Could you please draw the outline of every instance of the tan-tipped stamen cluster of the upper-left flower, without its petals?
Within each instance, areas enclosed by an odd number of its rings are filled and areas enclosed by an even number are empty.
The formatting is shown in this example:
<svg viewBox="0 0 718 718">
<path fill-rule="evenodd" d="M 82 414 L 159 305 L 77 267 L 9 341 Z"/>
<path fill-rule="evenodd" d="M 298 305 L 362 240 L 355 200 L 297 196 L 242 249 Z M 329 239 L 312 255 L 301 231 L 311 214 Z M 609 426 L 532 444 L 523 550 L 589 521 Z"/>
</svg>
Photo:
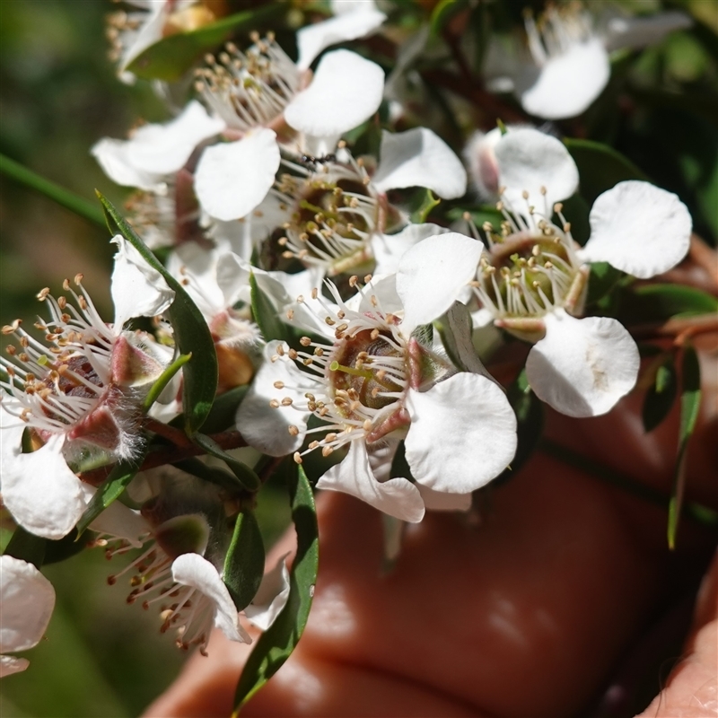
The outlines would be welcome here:
<svg viewBox="0 0 718 718">
<path fill-rule="evenodd" d="M 195 88 L 228 127 L 247 132 L 278 120 L 299 92 L 302 73 L 273 34 L 252 37 L 246 53 L 228 43 L 218 57 L 206 56 L 207 67 L 197 70 Z"/>
</svg>

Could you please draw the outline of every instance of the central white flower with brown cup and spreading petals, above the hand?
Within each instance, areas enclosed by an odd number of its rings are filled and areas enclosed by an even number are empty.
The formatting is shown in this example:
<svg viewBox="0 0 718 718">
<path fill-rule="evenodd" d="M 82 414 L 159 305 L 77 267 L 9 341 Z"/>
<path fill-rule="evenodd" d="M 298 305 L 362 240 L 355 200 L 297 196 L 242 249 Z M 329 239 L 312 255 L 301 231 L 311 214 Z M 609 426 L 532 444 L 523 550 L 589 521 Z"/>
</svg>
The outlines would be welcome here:
<svg viewBox="0 0 718 718">
<path fill-rule="evenodd" d="M 316 289 L 298 299 L 293 320 L 324 338 L 302 338 L 299 352 L 267 346 L 267 363 L 237 416 L 247 441 L 271 455 L 295 451 L 297 461 L 348 445 L 317 486 L 404 521 L 421 521 L 435 493 L 466 495 L 496 477 L 516 449 L 503 390 L 486 376 L 458 372 L 415 334 L 465 292 L 481 250 L 459 234 L 431 237 L 407 250 L 396 276 L 370 282 L 349 302 L 330 283 L 333 302 Z M 359 286 L 356 278 L 351 284 Z M 308 429 L 310 416 L 326 424 Z M 319 432 L 325 435 L 298 451 Z M 416 483 L 374 473 L 372 451 L 395 438 L 405 439 Z"/>
</svg>

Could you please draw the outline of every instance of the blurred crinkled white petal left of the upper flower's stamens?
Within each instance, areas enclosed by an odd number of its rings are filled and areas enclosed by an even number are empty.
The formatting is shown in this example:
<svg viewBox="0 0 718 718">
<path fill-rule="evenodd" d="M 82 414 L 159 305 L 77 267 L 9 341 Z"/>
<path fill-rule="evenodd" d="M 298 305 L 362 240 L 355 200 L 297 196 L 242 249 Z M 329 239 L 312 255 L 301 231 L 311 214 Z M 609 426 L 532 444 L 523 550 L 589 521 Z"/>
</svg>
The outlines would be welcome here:
<svg viewBox="0 0 718 718">
<path fill-rule="evenodd" d="M 171 122 L 138 127 L 128 140 L 104 137 L 90 152 L 118 185 L 166 195 L 174 174 L 185 166 L 197 144 L 223 129 L 221 119 L 210 117 L 193 100 Z"/>
</svg>

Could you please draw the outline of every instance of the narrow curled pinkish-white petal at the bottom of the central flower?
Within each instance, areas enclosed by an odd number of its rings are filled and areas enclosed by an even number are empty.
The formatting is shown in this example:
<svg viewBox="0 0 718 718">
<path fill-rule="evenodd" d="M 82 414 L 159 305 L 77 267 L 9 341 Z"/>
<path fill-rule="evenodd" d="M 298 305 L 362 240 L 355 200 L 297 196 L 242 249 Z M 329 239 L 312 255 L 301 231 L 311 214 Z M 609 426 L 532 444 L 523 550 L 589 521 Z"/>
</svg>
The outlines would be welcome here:
<svg viewBox="0 0 718 718">
<path fill-rule="evenodd" d="M 424 518 L 424 502 L 416 486 L 400 477 L 377 481 L 369 465 L 366 444 L 361 440 L 351 442 L 344 460 L 320 478 L 317 488 L 356 496 L 402 521 L 416 523 Z"/>
</svg>

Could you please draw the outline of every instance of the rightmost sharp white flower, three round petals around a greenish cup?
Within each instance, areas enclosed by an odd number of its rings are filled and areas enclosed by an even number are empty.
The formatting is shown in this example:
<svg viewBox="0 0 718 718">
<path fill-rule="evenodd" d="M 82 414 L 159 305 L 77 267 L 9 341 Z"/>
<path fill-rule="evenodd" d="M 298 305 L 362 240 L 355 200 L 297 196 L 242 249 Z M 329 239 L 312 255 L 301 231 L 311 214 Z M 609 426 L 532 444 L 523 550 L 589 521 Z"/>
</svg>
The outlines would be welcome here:
<svg viewBox="0 0 718 718">
<path fill-rule="evenodd" d="M 495 154 L 505 221 L 501 232 L 485 227 L 478 300 L 497 327 L 536 342 L 526 372 L 538 398 L 569 416 L 604 414 L 633 389 L 639 356 L 617 320 L 578 319 L 591 263 L 609 262 L 641 279 L 666 272 L 687 253 L 690 215 L 670 192 L 620 182 L 596 199 L 591 239 L 580 247 L 559 202 L 578 187 L 564 144 L 517 129 L 502 137 Z"/>
</svg>

